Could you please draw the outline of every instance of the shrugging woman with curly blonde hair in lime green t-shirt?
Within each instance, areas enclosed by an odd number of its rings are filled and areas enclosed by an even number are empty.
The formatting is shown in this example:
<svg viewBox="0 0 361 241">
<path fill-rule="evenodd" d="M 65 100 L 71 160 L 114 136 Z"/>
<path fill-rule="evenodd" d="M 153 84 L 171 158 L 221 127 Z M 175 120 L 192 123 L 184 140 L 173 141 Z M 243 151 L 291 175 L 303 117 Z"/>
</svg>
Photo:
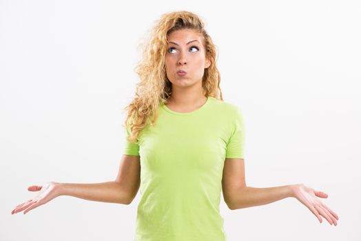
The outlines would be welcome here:
<svg viewBox="0 0 361 241">
<path fill-rule="evenodd" d="M 322 222 L 338 216 L 305 185 L 247 187 L 245 125 L 238 107 L 225 103 L 216 48 L 196 14 L 163 14 L 136 67 L 141 82 L 125 109 L 126 142 L 112 182 L 50 182 L 12 213 L 67 195 L 130 204 L 139 187 L 135 240 L 227 240 L 219 213 L 220 191 L 229 209 L 293 197 Z"/>
</svg>

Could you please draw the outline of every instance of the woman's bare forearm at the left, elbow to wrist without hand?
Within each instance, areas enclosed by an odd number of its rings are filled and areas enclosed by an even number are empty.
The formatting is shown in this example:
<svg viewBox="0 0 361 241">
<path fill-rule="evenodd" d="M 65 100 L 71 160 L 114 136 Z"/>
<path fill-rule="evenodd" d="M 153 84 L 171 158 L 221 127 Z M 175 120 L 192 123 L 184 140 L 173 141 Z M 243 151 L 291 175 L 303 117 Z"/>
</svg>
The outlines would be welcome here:
<svg viewBox="0 0 361 241">
<path fill-rule="evenodd" d="M 91 201 L 130 204 L 128 192 L 120 182 L 59 183 L 59 196 L 73 196 Z"/>
</svg>

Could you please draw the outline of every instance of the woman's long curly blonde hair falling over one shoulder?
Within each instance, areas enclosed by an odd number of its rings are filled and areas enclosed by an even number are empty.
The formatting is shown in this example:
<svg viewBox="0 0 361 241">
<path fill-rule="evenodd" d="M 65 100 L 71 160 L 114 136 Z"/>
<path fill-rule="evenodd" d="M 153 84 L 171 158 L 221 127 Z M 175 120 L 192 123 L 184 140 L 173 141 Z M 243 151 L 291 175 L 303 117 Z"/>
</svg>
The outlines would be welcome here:
<svg viewBox="0 0 361 241">
<path fill-rule="evenodd" d="M 149 32 L 147 41 L 143 44 L 143 58 L 134 68 L 141 79 L 136 84 L 136 93 L 132 102 L 123 110 L 127 110 L 127 117 L 123 127 L 127 129 L 127 140 L 137 143 L 138 135 L 146 125 L 154 125 L 158 105 L 167 103 L 172 94 L 172 83 L 165 71 L 165 54 L 167 52 L 167 36 L 183 29 L 196 30 L 203 36 L 203 47 L 211 65 L 205 69 L 202 86 L 205 96 L 212 96 L 223 101 L 220 90 L 220 73 L 216 67 L 218 58 L 216 45 L 205 30 L 200 17 L 193 12 L 167 12 L 155 22 Z"/>
</svg>

